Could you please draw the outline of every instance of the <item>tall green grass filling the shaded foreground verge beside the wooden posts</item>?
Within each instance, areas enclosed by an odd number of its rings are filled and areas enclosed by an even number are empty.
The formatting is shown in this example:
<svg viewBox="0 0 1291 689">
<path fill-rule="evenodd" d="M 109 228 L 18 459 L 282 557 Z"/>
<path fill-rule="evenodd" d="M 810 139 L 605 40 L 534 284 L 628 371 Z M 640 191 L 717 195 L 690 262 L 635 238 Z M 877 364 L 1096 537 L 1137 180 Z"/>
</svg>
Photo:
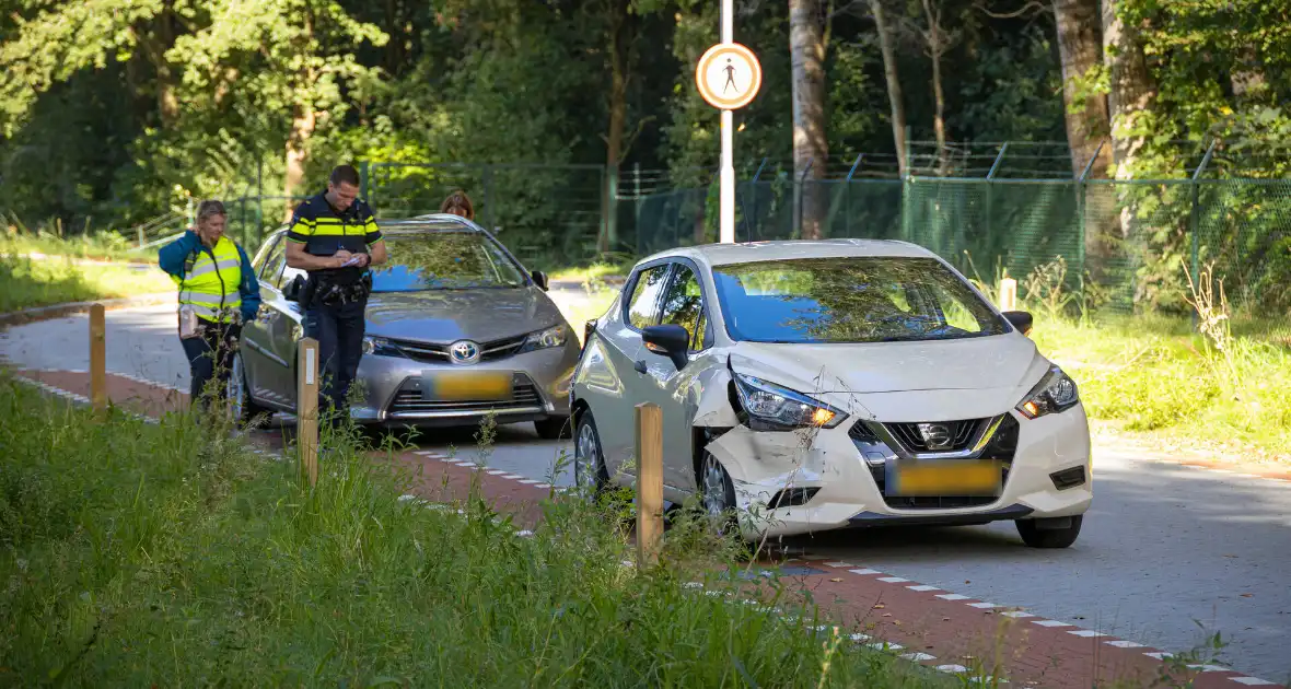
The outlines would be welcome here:
<svg viewBox="0 0 1291 689">
<path fill-rule="evenodd" d="M 944 681 L 679 586 L 700 573 L 676 554 L 638 574 L 576 498 L 522 538 L 478 494 L 462 515 L 400 501 L 414 477 L 343 437 L 309 490 L 217 424 L 0 386 L 3 685 Z"/>
</svg>

